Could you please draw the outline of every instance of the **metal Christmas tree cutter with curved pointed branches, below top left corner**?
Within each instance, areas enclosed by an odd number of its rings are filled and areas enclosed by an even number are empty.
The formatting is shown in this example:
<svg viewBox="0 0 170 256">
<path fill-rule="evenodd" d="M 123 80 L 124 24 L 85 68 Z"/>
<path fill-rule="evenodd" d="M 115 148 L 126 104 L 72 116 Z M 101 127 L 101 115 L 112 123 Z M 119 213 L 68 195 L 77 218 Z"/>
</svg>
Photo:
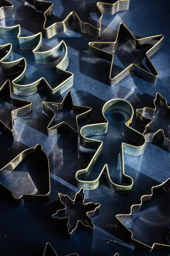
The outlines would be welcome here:
<svg viewBox="0 0 170 256">
<path fill-rule="evenodd" d="M 31 84 L 19 84 L 19 81 L 26 79 L 26 59 L 19 58 L 13 60 L 14 55 L 12 52 L 12 44 L 1 45 L 0 49 L 3 50 L 4 56 L 1 58 L 0 63 L 3 68 L 3 72 L 6 75 L 14 75 L 17 73 L 19 75 L 12 80 L 14 93 L 20 96 L 28 96 L 36 93 L 42 87 L 47 87 L 50 94 L 54 97 L 65 92 L 73 85 L 74 74 L 66 71 L 68 67 L 68 49 L 64 41 L 61 41 L 56 47 L 42 51 L 42 33 L 37 33 L 36 35 L 31 35 L 27 37 L 20 36 L 20 25 L 3 27 L 0 26 L 0 35 L 7 38 L 18 38 L 20 49 L 33 49 L 35 62 L 38 64 L 47 64 L 54 61 L 58 61 L 56 65 L 58 78 L 61 80 L 61 83 L 56 87 L 52 88 L 48 81 L 44 77 L 41 77 L 37 81 L 34 81 Z M 60 57 L 63 55 L 63 58 Z"/>
</svg>

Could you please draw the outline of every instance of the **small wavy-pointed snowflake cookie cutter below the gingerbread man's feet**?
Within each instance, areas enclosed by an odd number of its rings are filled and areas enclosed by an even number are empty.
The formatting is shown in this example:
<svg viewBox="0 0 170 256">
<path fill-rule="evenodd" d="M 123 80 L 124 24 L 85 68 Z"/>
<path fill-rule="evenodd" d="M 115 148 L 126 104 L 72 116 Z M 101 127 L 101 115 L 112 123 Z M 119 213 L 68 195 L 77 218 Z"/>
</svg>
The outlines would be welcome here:
<svg viewBox="0 0 170 256">
<path fill-rule="evenodd" d="M 81 224 L 82 227 L 84 226 L 94 230 L 91 216 L 93 216 L 96 210 L 99 209 L 100 204 L 94 204 L 92 202 L 85 204 L 84 189 L 80 189 L 80 191 L 76 193 L 74 200 L 71 200 L 68 195 L 62 195 L 61 193 L 58 195 L 59 203 L 62 209 L 59 209 L 55 214 L 52 215 L 52 217 L 65 221 L 68 235 L 71 235 L 74 230 L 77 229 L 78 224 Z M 79 215 L 79 219 L 77 220 L 71 216 L 73 209 L 74 211 L 77 211 L 77 215 Z"/>
</svg>

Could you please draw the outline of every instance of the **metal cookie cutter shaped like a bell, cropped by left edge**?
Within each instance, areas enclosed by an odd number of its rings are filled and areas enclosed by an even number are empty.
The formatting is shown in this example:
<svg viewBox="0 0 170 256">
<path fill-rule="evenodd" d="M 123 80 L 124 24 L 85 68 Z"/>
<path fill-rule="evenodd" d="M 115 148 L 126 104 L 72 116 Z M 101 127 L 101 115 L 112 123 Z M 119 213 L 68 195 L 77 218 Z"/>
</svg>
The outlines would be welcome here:
<svg viewBox="0 0 170 256">
<path fill-rule="evenodd" d="M 46 192 L 43 195 L 31 193 L 31 194 L 23 194 L 16 197 L 14 196 L 14 192 L 11 189 L 9 189 L 8 187 L 2 184 L 1 180 L 4 177 L 6 177 L 8 174 L 10 174 L 12 171 L 14 171 L 14 169 L 21 163 L 21 161 L 31 153 L 33 153 L 36 157 L 37 157 L 37 154 L 41 154 L 42 159 L 45 161 L 42 168 L 42 172 L 48 173 L 48 186 L 46 187 Z M 14 201 L 17 205 L 21 205 L 24 203 L 24 201 L 27 201 L 27 200 L 28 201 L 32 200 L 33 202 L 36 202 L 37 200 L 48 199 L 48 196 L 51 192 L 49 160 L 45 151 L 42 150 L 41 144 L 37 144 L 34 148 L 28 148 L 24 150 L 19 155 L 17 155 L 17 157 L 11 160 L 11 162 L 9 162 L 6 166 L 0 169 L 0 189 L 4 190 L 6 194 L 8 193 L 9 196 L 12 195 L 12 198 L 14 198 Z"/>
</svg>

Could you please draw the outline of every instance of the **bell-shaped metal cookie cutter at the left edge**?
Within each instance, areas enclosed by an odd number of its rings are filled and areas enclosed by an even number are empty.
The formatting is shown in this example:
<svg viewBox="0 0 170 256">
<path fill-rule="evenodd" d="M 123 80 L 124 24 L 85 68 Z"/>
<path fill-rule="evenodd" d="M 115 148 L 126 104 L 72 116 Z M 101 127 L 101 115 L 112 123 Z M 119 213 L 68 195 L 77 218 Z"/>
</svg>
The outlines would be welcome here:
<svg viewBox="0 0 170 256">
<path fill-rule="evenodd" d="M 45 186 L 45 189 L 43 189 L 43 192 L 41 194 L 38 194 L 39 185 L 37 184 L 37 180 L 35 180 L 35 187 L 34 192 L 31 192 L 30 194 L 22 194 L 18 191 L 17 186 L 17 192 L 14 192 L 13 190 L 9 189 L 7 186 L 3 185 L 2 180 L 7 175 L 9 175 L 14 169 L 26 158 L 30 157 L 30 155 L 34 155 L 34 157 L 42 164 L 41 169 L 41 182 L 44 180 L 47 180 L 47 185 Z M 40 165 L 39 163 L 39 165 Z M 32 177 L 31 177 L 32 179 Z M 18 180 L 17 180 L 18 181 Z M 34 182 L 34 180 L 33 180 Z M 26 186 L 28 186 L 29 183 L 26 183 Z M 49 169 L 49 161 L 47 154 L 42 150 L 42 145 L 37 144 L 34 148 L 28 148 L 21 152 L 17 157 L 15 157 L 11 162 L 9 162 L 6 166 L 4 166 L 2 169 L 0 169 L 0 189 L 4 190 L 5 193 L 8 192 L 8 194 L 14 198 L 14 201 L 17 205 L 21 205 L 26 200 L 42 200 L 42 199 L 48 199 L 48 196 L 51 192 L 51 186 L 50 186 L 50 169 Z"/>
</svg>

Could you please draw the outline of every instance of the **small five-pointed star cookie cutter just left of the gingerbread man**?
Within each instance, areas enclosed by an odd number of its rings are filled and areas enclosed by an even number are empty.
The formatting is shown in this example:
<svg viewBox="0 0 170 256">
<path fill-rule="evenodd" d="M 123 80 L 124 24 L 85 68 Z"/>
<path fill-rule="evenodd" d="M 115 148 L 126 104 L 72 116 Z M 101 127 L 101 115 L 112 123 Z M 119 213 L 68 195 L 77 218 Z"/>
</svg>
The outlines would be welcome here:
<svg viewBox="0 0 170 256">
<path fill-rule="evenodd" d="M 65 107 L 65 105 L 68 105 L 69 108 L 76 114 L 76 128 L 69 125 L 68 122 L 62 121 L 59 122 L 57 125 L 53 125 L 56 117 L 56 111 L 62 111 L 62 109 Z M 56 110 L 56 111 L 55 111 Z M 48 135 L 54 135 L 58 132 L 59 128 L 61 126 L 67 125 L 69 128 L 71 128 L 75 132 L 79 132 L 79 126 L 78 126 L 78 119 L 85 117 L 88 115 L 88 113 L 91 112 L 90 107 L 84 107 L 84 106 L 77 106 L 73 103 L 73 98 L 71 95 L 71 91 L 68 91 L 64 99 L 61 103 L 54 103 L 54 102 L 43 102 L 43 111 L 44 113 L 51 118 L 51 122 L 49 123 L 47 127 Z"/>
</svg>

